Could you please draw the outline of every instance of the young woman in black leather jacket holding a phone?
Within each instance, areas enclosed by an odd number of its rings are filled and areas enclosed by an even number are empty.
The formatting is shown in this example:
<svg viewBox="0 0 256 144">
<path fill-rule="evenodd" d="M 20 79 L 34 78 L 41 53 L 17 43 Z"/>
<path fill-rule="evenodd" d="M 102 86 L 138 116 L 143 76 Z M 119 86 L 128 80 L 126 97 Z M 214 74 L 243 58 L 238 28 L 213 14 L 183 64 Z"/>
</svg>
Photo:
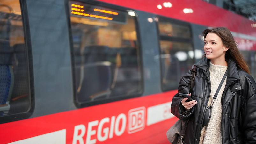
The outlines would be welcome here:
<svg viewBox="0 0 256 144">
<path fill-rule="evenodd" d="M 206 29 L 203 36 L 204 57 L 195 64 L 194 87 L 189 70 L 172 99 L 172 114 L 188 120 L 184 143 L 256 143 L 256 83 L 243 55 L 227 28 Z M 188 98 L 182 99 L 179 93 L 194 100 L 186 102 Z"/>
</svg>

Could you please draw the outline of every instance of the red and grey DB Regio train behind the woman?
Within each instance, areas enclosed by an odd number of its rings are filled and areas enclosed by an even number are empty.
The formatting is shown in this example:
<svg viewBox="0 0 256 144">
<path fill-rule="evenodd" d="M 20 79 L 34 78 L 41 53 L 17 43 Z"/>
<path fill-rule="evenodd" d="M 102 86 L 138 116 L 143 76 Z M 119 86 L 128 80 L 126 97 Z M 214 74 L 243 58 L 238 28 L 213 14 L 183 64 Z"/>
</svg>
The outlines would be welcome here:
<svg viewBox="0 0 256 144">
<path fill-rule="evenodd" d="M 167 144 L 203 30 L 256 79 L 256 22 L 203 0 L 1 0 L 0 144 Z"/>
</svg>

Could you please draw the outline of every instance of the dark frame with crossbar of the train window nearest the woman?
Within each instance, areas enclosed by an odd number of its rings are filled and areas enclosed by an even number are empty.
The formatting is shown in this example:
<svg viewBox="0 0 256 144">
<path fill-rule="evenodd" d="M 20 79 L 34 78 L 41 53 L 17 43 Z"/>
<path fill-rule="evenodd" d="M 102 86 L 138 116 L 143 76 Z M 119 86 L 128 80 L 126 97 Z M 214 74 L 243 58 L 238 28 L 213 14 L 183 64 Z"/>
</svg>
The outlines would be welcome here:
<svg viewBox="0 0 256 144">
<path fill-rule="evenodd" d="M 177 19 L 172 19 L 172 18 L 167 18 L 167 17 L 163 17 L 163 16 L 157 16 L 158 20 L 157 20 L 157 34 L 158 34 L 158 51 L 159 51 L 159 55 L 161 55 L 161 46 L 160 46 L 160 41 L 161 40 L 165 40 L 165 41 L 174 41 L 174 42 L 182 42 L 182 43 L 190 43 L 192 46 L 192 50 L 194 51 L 194 41 L 193 41 L 193 34 L 192 34 L 192 27 L 191 24 L 188 22 L 184 22 L 184 21 L 180 21 Z M 159 31 L 159 26 L 158 23 L 159 21 L 165 21 L 165 22 L 170 22 L 170 23 L 174 23 L 174 24 L 178 24 L 178 25 L 184 25 L 187 26 L 189 28 L 189 32 L 190 32 L 190 38 L 182 38 L 182 37 L 170 37 L 170 36 L 161 36 L 160 35 L 160 31 Z M 195 57 L 193 58 L 195 63 Z M 168 90 L 164 90 L 163 89 L 163 63 L 161 62 L 160 56 L 159 56 L 159 62 L 160 62 L 160 77 L 161 77 L 161 90 L 162 92 L 166 92 L 166 91 L 170 91 L 172 89 L 168 89 Z M 178 84 L 177 84 L 177 89 L 178 89 Z M 176 90 L 176 89 L 174 89 Z"/>
</svg>

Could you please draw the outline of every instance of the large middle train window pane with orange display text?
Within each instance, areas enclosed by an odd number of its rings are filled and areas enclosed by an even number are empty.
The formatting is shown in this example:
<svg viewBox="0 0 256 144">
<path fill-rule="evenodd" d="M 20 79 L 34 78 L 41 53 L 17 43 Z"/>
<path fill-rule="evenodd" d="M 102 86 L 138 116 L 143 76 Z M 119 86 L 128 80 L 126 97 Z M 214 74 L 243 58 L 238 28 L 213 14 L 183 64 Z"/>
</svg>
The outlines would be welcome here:
<svg viewBox="0 0 256 144">
<path fill-rule="evenodd" d="M 140 96 L 135 12 L 73 0 L 68 8 L 77 107 Z"/>
</svg>

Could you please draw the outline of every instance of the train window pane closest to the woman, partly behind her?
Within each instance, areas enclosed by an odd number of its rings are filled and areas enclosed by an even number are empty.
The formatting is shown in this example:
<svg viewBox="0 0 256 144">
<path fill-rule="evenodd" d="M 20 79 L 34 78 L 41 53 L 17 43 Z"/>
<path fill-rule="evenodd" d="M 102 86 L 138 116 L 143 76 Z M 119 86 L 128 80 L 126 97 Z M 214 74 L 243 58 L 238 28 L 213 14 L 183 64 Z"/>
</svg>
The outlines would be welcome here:
<svg viewBox="0 0 256 144">
<path fill-rule="evenodd" d="M 194 64 L 191 28 L 187 23 L 159 18 L 158 34 L 162 90 L 175 90 Z"/>
</svg>

